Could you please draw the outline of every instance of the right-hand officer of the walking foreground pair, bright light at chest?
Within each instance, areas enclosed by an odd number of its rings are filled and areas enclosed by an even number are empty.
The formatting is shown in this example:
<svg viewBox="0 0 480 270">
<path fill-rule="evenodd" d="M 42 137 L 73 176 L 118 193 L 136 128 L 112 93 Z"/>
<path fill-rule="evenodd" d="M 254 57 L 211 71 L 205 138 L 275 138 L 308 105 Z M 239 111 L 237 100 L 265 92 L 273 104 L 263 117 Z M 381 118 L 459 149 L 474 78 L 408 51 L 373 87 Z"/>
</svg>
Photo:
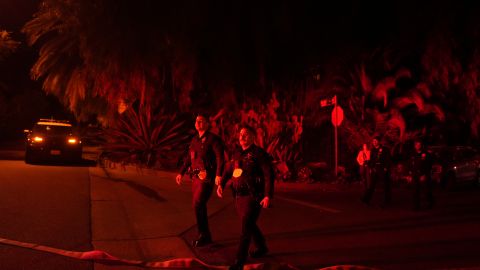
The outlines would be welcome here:
<svg viewBox="0 0 480 270">
<path fill-rule="evenodd" d="M 270 205 L 273 196 L 274 176 L 270 155 L 253 144 L 255 130 L 250 126 L 240 129 L 240 148 L 233 153 L 233 159 L 225 169 L 217 195 L 223 196 L 223 189 L 229 179 L 235 198 L 235 208 L 242 223 L 242 233 L 235 263 L 229 269 L 243 269 L 247 255 L 252 258 L 268 252 L 265 238 L 257 226 L 260 210 Z M 255 249 L 248 250 L 250 239 Z"/>
</svg>

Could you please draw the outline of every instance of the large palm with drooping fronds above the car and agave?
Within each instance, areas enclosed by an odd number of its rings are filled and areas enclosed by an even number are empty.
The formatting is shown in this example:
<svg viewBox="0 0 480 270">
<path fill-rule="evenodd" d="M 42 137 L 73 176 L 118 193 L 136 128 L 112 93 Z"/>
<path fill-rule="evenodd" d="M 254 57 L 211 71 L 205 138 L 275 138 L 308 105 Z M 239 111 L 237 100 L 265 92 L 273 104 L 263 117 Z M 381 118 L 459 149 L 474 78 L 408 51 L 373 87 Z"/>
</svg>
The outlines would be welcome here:
<svg viewBox="0 0 480 270">
<path fill-rule="evenodd" d="M 169 14 L 179 5 L 46 0 L 23 28 L 29 44 L 40 46 L 32 77 L 43 79 L 44 90 L 77 116 L 89 114 L 85 108 L 105 114 L 136 100 L 156 107 L 171 98 L 174 83 L 194 73 L 182 72 L 190 59 L 182 57 L 185 46 L 177 46 L 181 38 L 171 34 Z"/>
</svg>

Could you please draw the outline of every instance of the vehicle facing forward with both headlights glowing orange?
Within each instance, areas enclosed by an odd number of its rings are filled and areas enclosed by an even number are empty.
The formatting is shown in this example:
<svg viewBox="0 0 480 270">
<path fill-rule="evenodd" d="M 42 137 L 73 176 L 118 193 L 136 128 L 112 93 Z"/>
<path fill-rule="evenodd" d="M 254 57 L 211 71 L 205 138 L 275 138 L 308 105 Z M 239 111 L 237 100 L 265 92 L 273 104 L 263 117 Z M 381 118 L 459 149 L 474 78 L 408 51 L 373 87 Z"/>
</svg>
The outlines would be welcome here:
<svg viewBox="0 0 480 270">
<path fill-rule="evenodd" d="M 40 119 L 25 130 L 25 163 L 57 159 L 80 161 L 82 141 L 74 127 L 66 120 Z"/>
</svg>

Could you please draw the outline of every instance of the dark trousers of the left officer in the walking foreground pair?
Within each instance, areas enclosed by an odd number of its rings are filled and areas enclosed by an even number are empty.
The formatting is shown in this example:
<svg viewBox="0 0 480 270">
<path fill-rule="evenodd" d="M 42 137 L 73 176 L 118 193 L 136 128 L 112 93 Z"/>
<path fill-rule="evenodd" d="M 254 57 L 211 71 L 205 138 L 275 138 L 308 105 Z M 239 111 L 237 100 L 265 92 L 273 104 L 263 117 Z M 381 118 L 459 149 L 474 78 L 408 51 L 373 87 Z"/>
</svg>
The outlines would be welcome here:
<svg viewBox="0 0 480 270">
<path fill-rule="evenodd" d="M 192 193 L 193 193 L 193 209 L 195 218 L 197 219 L 198 234 L 204 237 L 211 237 L 208 228 L 207 202 L 212 195 L 213 180 L 207 182 L 193 177 Z"/>
</svg>

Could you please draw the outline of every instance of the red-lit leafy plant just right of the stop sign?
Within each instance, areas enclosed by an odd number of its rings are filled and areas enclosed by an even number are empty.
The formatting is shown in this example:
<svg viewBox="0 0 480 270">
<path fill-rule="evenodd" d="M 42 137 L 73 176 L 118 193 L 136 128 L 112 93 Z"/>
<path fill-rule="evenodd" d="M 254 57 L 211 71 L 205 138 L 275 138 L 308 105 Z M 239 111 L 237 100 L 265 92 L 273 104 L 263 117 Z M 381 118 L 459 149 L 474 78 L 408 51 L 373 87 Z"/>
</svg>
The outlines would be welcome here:
<svg viewBox="0 0 480 270">
<path fill-rule="evenodd" d="M 389 59 L 391 54 L 382 50 L 376 53 L 380 53 L 379 60 L 378 55 L 370 55 L 355 65 L 347 79 L 338 82 L 340 95 L 347 101 L 342 130 L 354 149 L 375 134 L 384 135 L 394 148 L 401 148 L 406 141 L 425 135 L 430 128 L 419 120 L 431 117 L 438 123 L 445 120 L 444 111 L 433 99 L 428 84 L 416 81 L 412 71 L 400 64 L 400 60 Z M 375 61 L 389 64 L 379 65 Z M 371 74 L 378 75 L 374 78 Z M 402 86 L 401 81 L 407 81 L 407 87 Z"/>
</svg>

